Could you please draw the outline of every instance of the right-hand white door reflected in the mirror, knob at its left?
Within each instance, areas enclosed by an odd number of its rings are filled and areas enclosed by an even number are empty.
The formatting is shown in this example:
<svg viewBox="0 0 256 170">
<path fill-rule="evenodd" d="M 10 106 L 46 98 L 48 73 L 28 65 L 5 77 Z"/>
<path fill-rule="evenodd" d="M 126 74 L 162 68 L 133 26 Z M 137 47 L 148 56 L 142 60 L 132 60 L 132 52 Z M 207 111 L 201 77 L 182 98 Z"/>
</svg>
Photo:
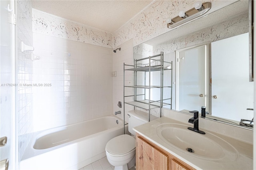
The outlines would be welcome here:
<svg viewBox="0 0 256 170">
<path fill-rule="evenodd" d="M 240 121 L 251 120 L 253 82 L 249 82 L 249 34 L 211 43 L 212 115 Z M 236 113 L 236 114 L 234 114 Z"/>
</svg>

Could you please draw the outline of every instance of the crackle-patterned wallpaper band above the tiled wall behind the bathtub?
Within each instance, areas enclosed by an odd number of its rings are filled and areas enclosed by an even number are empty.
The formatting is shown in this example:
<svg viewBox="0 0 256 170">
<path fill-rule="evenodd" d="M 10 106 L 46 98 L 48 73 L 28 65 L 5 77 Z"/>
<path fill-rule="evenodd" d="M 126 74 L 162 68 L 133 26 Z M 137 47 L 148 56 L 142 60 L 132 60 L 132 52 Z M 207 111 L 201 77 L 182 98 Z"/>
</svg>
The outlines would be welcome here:
<svg viewBox="0 0 256 170">
<path fill-rule="evenodd" d="M 66 20 L 46 12 L 33 9 L 33 32 L 50 35 L 76 42 L 89 43 L 101 47 L 112 48 L 113 35 L 112 33 L 92 28 L 90 26 Z M 66 40 L 57 42 L 57 45 L 68 45 Z M 69 46 L 75 47 L 76 44 Z M 80 45 L 81 46 L 81 45 Z M 64 47 L 64 46 L 62 46 Z M 56 47 L 53 47 L 56 48 Z M 62 52 L 68 48 L 63 48 Z"/>
</svg>

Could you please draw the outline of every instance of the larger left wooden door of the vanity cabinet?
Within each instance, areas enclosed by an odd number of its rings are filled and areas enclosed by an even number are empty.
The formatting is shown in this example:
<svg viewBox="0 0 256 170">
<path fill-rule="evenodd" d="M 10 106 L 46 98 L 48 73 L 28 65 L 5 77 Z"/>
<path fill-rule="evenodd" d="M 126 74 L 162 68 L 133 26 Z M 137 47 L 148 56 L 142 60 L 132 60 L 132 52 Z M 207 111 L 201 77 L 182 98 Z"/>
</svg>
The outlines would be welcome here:
<svg viewBox="0 0 256 170">
<path fill-rule="evenodd" d="M 137 137 L 136 170 L 167 170 L 168 155 Z"/>
</svg>

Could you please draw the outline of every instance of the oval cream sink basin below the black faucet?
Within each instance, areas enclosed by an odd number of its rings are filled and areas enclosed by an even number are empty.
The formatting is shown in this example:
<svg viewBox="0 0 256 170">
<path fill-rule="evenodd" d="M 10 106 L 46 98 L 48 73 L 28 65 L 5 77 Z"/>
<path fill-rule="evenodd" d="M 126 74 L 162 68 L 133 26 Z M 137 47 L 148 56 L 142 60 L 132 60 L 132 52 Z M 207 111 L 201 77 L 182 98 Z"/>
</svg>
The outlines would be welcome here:
<svg viewBox="0 0 256 170">
<path fill-rule="evenodd" d="M 170 146 L 176 146 L 186 154 L 205 160 L 231 162 L 238 158 L 238 151 L 222 138 L 206 132 L 200 134 L 181 124 L 162 124 L 156 128 L 159 138 Z"/>
</svg>

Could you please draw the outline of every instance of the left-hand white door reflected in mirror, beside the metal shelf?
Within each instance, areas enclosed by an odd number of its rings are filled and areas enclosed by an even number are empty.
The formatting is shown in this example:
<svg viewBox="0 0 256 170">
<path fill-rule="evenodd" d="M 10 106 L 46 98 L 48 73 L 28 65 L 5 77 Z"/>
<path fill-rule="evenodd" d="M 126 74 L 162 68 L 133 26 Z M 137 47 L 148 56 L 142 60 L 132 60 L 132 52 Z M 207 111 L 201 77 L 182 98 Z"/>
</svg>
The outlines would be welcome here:
<svg viewBox="0 0 256 170">
<path fill-rule="evenodd" d="M 177 51 L 176 110 L 206 106 L 206 52 L 207 45 Z"/>
</svg>

